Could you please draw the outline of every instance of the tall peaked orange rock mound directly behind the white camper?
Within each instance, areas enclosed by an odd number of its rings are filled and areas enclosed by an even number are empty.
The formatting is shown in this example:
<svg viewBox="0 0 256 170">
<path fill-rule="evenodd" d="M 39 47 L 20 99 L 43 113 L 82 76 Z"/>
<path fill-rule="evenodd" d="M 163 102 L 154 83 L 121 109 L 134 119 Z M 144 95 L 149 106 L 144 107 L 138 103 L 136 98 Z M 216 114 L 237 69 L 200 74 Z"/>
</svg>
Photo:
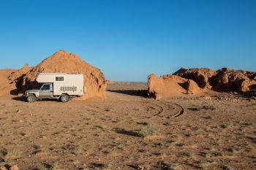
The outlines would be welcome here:
<svg viewBox="0 0 256 170">
<path fill-rule="evenodd" d="M 39 88 L 40 85 L 36 82 L 39 73 L 81 73 L 84 76 L 86 87 L 83 99 L 105 98 L 104 74 L 96 67 L 83 61 L 78 55 L 60 50 L 37 64 L 23 77 L 21 87 L 23 92 L 27 89 Z"/>
</svg>

